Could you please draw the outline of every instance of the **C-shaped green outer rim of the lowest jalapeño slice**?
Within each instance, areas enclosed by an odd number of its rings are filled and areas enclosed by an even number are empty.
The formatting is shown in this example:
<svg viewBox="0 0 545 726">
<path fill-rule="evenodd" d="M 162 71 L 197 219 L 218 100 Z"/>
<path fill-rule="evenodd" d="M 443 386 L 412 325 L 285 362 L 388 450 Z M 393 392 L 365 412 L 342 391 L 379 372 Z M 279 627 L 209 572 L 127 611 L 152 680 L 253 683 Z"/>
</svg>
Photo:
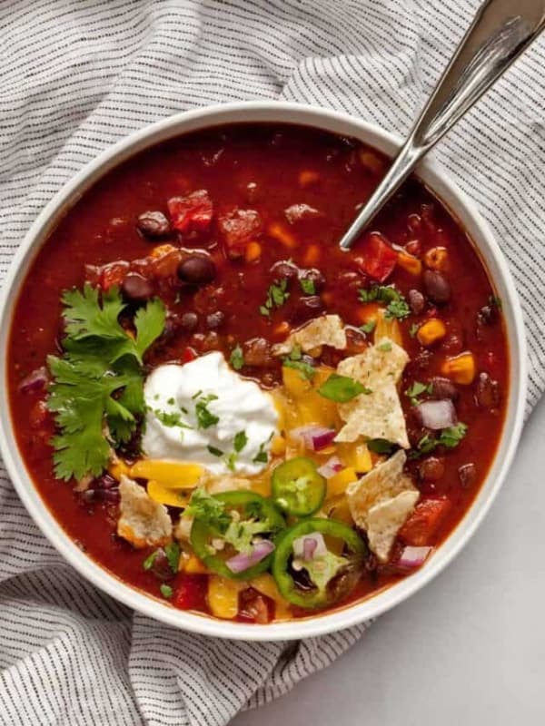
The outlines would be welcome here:
<svg viewBox="0 0 545 726">
<path fill-rule="evenodd" d="M 298 591 L 292 575 L 288 572 L 288 561 L 293 552 L 293 541 L 303 535 L 311 535 L 312 532 L 320 532 L 322 535 L 342 539 L 345 544 L 348 544 L 352 553 L 358 557 L 363 558 L 367 554 L 367 547 L 362 537 L 348 525 L 336 520 L 304 519 L 302 522 L 284 530 L 276 540 L 276 549 L 272 553 L 272 574 L 282 596 L 290 603 L 304 608 L 319 608 L 331 604 L 322 594 L 302 594 L 301 591 Z"/>
</svg>

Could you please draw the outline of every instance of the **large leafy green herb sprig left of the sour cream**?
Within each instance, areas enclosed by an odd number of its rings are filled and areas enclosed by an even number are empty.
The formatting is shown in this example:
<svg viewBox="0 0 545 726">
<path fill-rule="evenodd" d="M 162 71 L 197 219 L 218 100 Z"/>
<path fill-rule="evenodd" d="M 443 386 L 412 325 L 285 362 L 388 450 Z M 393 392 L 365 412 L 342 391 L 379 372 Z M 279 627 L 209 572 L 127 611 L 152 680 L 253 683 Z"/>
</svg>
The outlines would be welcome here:
<svg viewBox="0 0 545 726">
<path fill-rule="evenodd" d="M 117 287 L 99 296 L 85 283 L 65 290 L 62 302 L 63 354 L 47 358 L 54 469 L 59 479 L 82 479 L 102 473 L 111 447 L 128 441 L 144 415 L 143 358 L 163 332 L 165 309 L 160 299 L 138 309 L 132 336 L 119 322 L 126 303 Z"/>
</svg>

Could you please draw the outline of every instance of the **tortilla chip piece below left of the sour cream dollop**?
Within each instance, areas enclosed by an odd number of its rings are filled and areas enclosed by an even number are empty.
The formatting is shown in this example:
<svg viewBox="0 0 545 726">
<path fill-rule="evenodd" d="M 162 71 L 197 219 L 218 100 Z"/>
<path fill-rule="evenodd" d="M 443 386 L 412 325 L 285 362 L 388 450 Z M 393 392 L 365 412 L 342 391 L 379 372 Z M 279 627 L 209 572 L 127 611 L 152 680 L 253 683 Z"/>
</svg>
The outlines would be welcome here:
<svg viewBox="0 0 545 726">
<path fill-rule="evenodd" d="M 119 485 L 121 515 L 117 534 L 135 547 L 159 546 L 171 540 L 173 524 L 164 505 L 154 502 L 143 486 L 128 476 Z"/>
</svg>

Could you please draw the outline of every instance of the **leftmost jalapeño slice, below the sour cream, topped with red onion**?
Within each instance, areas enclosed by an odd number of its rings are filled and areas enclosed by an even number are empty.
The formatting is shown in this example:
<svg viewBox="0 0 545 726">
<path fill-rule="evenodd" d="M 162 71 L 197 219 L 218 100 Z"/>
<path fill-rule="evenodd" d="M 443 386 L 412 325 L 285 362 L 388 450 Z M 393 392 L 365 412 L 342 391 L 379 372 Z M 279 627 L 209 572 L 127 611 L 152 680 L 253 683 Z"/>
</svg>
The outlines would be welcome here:
<svg viewBox="0 0 545 726">
<path fill-rule="evenodd" d="M 243 535 L 241 527 L 250 526 L 248 536 L 254 534 L 272 537 L 285 527 L 282 515 L 272 502 L 262 495 L 247 491 L 223 492 L 212 495 L 211 498 L 223 505 L 223 510 L 220 508 L 219 517 L 207 518 L 204 515 L 195 515 L 190 535 L 195 554 L 209 570 L 233 580 L 249 580 L 256 574 L 269 569 L 272 554 L 268 554 L 260 562 L 247 567 L 242 572 L 233 572 L 227 564 L 227 560 L 230 559 L 233 552 L 236 552 L 236 548 L 230 546 L 230 542 L 236 542 L 230 533 L 234 532 L 236 535 L 238 531 L 239 535 Z M 235 517 L 233 517 L 233 512 L 237 513 Z M 225 517 L 225 515 L 227 516 Z M 223 549 L 214 547 L 214 540 L 225 542 Z"/>
</svg>

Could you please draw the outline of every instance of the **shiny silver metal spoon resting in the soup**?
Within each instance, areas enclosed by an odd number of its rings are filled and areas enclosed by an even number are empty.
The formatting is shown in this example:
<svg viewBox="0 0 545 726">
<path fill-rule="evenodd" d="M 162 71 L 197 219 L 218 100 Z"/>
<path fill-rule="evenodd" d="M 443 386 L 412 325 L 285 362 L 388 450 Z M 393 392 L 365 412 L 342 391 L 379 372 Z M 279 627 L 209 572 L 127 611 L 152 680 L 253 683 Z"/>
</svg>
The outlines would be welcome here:
<svg viewBox="0 0 545 726">
<path fill-rule="evenodd" d="M 486 0 L 418 121 L 340 246 L 350 250 L 365 225 L 441 139 L 545 28 L 545 0 Z"/>
</svg>

